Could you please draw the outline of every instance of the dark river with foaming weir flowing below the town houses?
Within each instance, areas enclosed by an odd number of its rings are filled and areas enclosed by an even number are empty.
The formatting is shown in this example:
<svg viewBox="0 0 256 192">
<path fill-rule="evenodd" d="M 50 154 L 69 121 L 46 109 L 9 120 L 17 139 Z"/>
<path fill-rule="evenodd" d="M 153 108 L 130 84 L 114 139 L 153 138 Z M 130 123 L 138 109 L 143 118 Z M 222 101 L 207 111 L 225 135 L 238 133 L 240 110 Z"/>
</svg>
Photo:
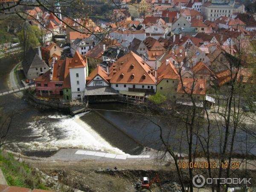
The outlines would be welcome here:
<svg viewBox="0 0 256 192">
<path fill-rule="evenodd" d="M 20 60 L 19 55 L 0 58 L 0 89 L 8 88 L 9 72 Z M 28 156 L 49 157 L 60 148 L 84 148 L 101 150 L 115 154 L 140 154 L 143 148 L 160 149 L 159 128 L 140 114 L 120 112 L 126 105 L 105 103 L 91 105 L 91 108 L 103 109 L 101 113 L 108 121 L 95 112 L 70 116 L 57 110 L 39 109 L 28 105 L 26 101 L 14 94 L 0 97 L 0 108 L 6 113 L 15 114 L 6 140 L 7 148 Z M 114 111 L 105 111 L 114 110 Z M 110 123 L 112 122 L 112 123 Z M 113 125 L 114 124 L 114 125 Z M 178 150 L 181 122 L 178 119 L 164 118 L 161 121 L 163 138 Z M 116 128 L 119 127 L 122 131 Z M 212 134 L 214 132 L 214 128 Z M 181 140 L 186 148 L 186 138 Z M 195 142 L 195 141 L 194 141 Z M 144 147 L 142 147 L 141 145 Z M 248 140 L 251 153 L 256 154 L 254 141 Z M 213 149 L 218 151 L 218 138 L 212 141 Z M 244 132 L 236 137 L 235 152 L 241 153 L 245 148 Z M 244 151 L 242 151 L 244 153 Z"/>
</svg>

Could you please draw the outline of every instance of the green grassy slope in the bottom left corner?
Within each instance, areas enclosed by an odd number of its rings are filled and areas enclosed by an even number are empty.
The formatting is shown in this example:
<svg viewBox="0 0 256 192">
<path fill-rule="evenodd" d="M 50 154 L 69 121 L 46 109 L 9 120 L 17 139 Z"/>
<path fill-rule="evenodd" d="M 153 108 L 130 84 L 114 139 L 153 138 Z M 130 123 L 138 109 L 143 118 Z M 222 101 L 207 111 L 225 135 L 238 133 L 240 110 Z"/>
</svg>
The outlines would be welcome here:
<svg viewBox="0 0 256 192">
<path fill-rule="evenodd" d="M 12 154 L 0 151 L 0 168 L 10 186 L 49 190 L 48 187 L 40 182 L 40 178 L 31 166 L 15 160 Z"/>
</svg>

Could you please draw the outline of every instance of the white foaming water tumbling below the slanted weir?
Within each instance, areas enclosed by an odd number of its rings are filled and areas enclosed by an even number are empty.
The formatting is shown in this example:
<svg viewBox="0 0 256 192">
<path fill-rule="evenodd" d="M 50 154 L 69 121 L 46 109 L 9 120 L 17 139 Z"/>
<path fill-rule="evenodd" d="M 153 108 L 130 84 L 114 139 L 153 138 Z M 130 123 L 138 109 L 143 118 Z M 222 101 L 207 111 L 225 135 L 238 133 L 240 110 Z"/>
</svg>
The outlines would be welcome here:
<svg viewBox="0 0 256 192">
<path fill-rule="evenodd" d="M 31 141 L 16 143 L 27 151 L 52 151 L 60 148 L 100 150 L 113 154 L 125 154 L 113 147 L 79 117 L 48 115 L 35 117 L 28 123 Z"/>
</svg>

